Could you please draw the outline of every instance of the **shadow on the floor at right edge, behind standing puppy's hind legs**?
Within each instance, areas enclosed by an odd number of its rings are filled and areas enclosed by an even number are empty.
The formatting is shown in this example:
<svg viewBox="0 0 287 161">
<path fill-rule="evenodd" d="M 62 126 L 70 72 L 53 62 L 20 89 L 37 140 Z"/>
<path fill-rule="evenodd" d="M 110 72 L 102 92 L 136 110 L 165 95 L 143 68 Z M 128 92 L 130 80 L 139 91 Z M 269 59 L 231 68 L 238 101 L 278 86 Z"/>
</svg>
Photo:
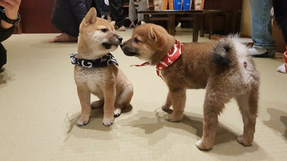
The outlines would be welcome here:
<svg viewBox="0 0 287 161">
<path fill-rule="evenodd" d="M 287 139 L 287 113 L 274 108 L 268 108 L 267 112 L 270 114 L 270 120 L 263 121 L 263 123 L 269 128 L 280 132 Z"/>
</svg>

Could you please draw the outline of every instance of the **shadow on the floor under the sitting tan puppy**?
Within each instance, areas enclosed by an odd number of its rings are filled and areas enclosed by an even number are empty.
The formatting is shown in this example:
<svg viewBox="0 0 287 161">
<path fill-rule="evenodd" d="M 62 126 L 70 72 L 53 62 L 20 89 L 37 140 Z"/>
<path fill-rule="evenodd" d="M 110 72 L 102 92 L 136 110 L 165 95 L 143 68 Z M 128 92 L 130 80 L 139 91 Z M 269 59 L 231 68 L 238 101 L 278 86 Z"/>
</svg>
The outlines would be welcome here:
<svg viewBox="0 0 287 161">
<path fill-rule="evenodd" d="M 132 105 L 126 106 L 124 109 L 122 109 L 121 115 L 126 115 L 132 112 Z M 103 107 L 97 108 L 97 109 L 92 109 L 91 110 L 91 116 L 90 116 L 90 121 L 87 125 L 85 126 L 78 126 L 77 122 L 78 119 L 80 118 L 81 112 L 77 112 L 75 114 L 72 114 L 71 117 L 68 116 L 68 113 L 66 114 L 65 118 L 65 125 L 67 129 L 67 137 L 65 140 L 69 138 L 70 135 L 73 135 L 77 138 L 92 138 L 92 139 L 103 139 L 103 140 L 109 140 L 109 137 L 100 137 L 97 138 L 96 135 L 90 135 L 90 131 L 87 131 L 86 129 L 90 130 L 96 130 L 96 131 L 106 131 L 107 135 L 109 135 L 108 131 L 116 130 L 118 129 L 117 126 L 112 125 L 112 126 L 104 126 L 102 123 L 103 120 Z M 114 123 L 117 122 L 117 117 L 115 117 Z M 83 130 L 85 132 L 80 133 L 79 130 Z"/>
</svg>

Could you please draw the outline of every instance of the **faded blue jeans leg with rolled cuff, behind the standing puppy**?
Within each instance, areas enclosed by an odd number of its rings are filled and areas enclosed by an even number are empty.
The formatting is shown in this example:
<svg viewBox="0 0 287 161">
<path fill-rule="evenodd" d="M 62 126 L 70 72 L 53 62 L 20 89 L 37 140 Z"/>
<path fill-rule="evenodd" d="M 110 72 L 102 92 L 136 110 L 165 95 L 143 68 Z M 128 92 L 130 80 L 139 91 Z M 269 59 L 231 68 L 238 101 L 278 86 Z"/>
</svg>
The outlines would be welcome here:
<svg viewBox="0 0 287 161">
<path fill-rule="evenodd" d="M 251 11 L 251 37 L 254 47 L 274 49 L 270 11 L 271 0 L 249 0 Z"/>
</svg>

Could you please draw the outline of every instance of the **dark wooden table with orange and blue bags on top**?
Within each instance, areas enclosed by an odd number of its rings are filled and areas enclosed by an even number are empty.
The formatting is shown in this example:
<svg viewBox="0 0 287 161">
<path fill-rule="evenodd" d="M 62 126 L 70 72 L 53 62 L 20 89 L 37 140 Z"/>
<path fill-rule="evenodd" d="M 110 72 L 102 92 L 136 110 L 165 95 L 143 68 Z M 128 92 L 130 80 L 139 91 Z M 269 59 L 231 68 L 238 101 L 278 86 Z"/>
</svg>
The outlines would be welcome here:
<svg viewBox="0 0 287 161">
<path fill-rule="evenodd" d="M 144 14 L 144 21 L 148 23 L 149 21 L 167 21 L 167 32 L 170 35 L 175 35 L 175 21 L 176 20 L 193 20 L 193 42 L 198 41 L 198 16 L 205 14 L 205 10 L 151 10 L 151 11 L 138 11 L 140 14 Z M 167 17 L 149 17 L 149 15 L 167 15 Z M 184 17 L 176 17 L 175 15 L 185 14 Z M 188 15 L 192 14 L 193 17 Z"/>
</svg>

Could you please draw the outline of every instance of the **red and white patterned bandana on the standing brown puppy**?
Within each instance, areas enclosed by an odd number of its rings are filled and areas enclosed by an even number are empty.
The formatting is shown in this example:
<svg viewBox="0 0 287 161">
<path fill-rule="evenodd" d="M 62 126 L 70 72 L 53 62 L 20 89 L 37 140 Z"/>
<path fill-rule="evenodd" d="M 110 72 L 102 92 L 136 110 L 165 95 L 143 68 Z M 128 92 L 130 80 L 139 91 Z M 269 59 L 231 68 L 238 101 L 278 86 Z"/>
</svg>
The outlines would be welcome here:
<svg viewBox="0 0 287 161">
<path fill-rule="evenodd" d="M 159 77 L 161 77 L 159 71 L 172 64 L 181 55 L 182 49 L 183 44 L 180 41 L 175 40 L 174 45 L 167 53 L 167 55 L 164 57 L 164 59 L 155 66 L 156 73 Z M 146 66 L 146 65 L 149 65 L 149 62 L 145 62 L 141 65 L 131 65 L 131 66 Z"/>
</svg>

